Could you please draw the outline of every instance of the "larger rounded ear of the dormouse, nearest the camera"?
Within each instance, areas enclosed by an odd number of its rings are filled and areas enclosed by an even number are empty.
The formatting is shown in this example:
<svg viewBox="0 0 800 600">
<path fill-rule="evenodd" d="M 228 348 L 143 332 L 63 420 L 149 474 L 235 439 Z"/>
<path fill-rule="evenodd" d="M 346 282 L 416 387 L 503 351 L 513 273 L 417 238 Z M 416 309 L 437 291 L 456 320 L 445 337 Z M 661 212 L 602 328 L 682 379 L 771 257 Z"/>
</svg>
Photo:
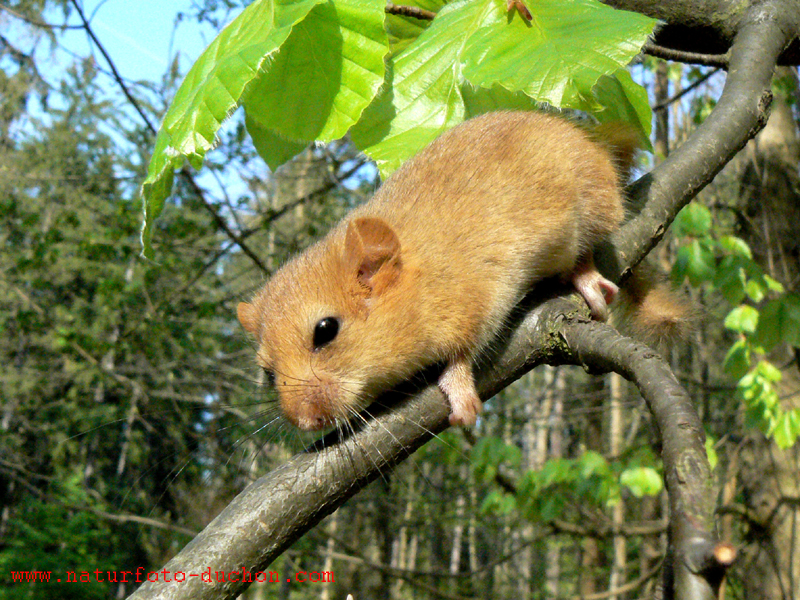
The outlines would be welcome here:
<svg viewBox="0 0 800 600">
<path fill-rule="evenodd" d="M 400 240 L 382 219 L 360 217 L 347 225 L 345 263 L 370 295 L 391 286 L 402 268 Z"/>
</svg>

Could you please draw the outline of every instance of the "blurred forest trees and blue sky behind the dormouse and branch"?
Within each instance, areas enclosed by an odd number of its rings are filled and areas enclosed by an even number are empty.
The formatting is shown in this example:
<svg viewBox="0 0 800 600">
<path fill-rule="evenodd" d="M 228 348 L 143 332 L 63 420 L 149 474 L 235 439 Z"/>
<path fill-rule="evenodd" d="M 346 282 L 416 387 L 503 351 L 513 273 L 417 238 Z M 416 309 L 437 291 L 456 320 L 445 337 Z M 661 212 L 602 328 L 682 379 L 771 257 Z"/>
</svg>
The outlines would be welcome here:
<svg viewBox="0 0 800 600">
<path fill-rule="evenodd" d="M 239 8 L 194 3 L 181 27 L 213 35 Z M 125 597 L 130 584 L 56 588 L 10 572 L 157 569 L 310 441 L 276 419 L 235 306 L 378 184 L 347 140 L 273 172 L 234 116 L 197 180 L 177 180 L 156 260 L 142 260 L 139 189 L 189 61 L 121 77 L 83 10 L 0 7 L 0 597 Z M 64 22 L 97 37 L 53 69 L 48 52 L 74 53 Z M 660 107 L 646 171 L 708 115 L 724 73 L 653 58 L 632 72 Z M 721 537 L 741 549 L 732 598 L 800 594 L 798 337 L 792 318 L 771 344 L 757 324 L 795 306 L 784 290 L 800 273 L 797 74 L 778 75 L 758 143 L 656 250 L 703 306 L 670 359 L 708 434 Z M 748 403 L 754 382 L 771 404 Z M 273 565 L 332 571 L 335 584 L 247 597 L 641 597 L 665 548 L 654 440 L 619 377 L 540 367 L 487 405 L 474 436 L 441 434 Z"/>
</svg>

